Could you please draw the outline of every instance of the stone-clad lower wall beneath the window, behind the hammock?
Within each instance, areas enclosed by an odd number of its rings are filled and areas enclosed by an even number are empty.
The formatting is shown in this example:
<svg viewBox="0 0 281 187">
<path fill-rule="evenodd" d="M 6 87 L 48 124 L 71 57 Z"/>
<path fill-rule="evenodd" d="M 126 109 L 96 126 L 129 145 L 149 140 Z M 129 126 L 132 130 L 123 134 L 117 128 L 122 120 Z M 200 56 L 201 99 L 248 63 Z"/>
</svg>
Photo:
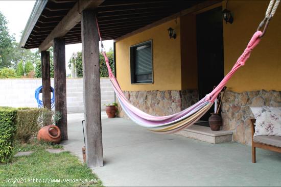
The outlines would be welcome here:
<svg viewBox="0 0 281 187">
<path fill-rule="evenodd" d="M 124 94 L 136 108 L 154 116 L 180 112 L 198 101 L 197 90 L 124 91 Z M 120 104 L 119 116 L 128 119 Z"/>
</svg>

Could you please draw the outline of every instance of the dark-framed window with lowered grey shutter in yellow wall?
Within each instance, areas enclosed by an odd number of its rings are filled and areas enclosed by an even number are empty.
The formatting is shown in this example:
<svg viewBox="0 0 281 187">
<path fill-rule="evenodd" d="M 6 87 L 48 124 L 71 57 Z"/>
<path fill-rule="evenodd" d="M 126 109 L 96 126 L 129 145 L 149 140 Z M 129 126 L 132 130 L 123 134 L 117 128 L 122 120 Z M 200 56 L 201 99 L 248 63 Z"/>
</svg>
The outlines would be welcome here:
<svg viewBox="0 0 281 187">
<path fill-rule="evenodd" d="M 152 83 L 152 41 L 130 47 L 131 84 Z"/>
</svg>

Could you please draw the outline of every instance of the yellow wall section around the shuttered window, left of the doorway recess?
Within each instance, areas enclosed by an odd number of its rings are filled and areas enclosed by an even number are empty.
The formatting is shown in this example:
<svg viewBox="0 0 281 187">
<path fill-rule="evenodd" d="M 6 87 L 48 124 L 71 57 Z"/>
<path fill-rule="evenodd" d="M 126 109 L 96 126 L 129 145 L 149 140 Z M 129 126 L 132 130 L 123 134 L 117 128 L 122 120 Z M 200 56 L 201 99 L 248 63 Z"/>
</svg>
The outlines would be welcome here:
<svg viewBox="0 0 281 187">
<path fill-rule="evenodd" d="M 168 29 L 176 31 L 170 39 Z M 129 47 L 152 40 L 153 84 L 131 84 Z M 122 90 L 181 90 L 180 21 L 177 19 L 116 42 L 116 75 Z"/>
</svg>

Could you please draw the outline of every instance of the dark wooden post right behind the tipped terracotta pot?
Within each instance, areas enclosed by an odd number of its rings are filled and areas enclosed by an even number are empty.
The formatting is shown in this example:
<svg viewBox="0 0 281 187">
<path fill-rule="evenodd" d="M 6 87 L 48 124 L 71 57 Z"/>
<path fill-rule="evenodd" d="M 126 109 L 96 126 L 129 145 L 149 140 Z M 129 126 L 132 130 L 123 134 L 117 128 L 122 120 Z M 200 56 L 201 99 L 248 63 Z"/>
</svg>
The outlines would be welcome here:
<svg viewBox="0 0 281 187">
<path fill-rule="evenodd" d="M 54 39 L 54 85 L 55 111 L 61 113 L 57 125 L 61 130 L 61 140 L 67 140 L 65 41 L 59 38 Z"/>
</svg>

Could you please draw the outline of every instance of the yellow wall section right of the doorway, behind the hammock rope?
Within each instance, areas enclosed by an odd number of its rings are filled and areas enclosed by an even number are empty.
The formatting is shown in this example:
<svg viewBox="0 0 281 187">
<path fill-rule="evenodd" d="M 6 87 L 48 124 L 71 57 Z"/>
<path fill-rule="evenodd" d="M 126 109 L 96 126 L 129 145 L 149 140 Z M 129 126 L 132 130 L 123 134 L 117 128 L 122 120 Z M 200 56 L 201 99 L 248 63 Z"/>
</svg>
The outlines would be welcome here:
<svg viewBox="0 0 281 187">
<path fill-rule="evenodd" d="M 225 74 L 243 52 L 257 25 L 265 16 L 269 1 L 229 1 L 232 24 L 223 25 Z M 225 5 L 225 2 L 223 2 Z M 266 35 L 252 51 L 244 67 L 230 79 L 227 87 L 235 92 L 281 90 L 281 7 L 270 21 Z"/>
</svg>

